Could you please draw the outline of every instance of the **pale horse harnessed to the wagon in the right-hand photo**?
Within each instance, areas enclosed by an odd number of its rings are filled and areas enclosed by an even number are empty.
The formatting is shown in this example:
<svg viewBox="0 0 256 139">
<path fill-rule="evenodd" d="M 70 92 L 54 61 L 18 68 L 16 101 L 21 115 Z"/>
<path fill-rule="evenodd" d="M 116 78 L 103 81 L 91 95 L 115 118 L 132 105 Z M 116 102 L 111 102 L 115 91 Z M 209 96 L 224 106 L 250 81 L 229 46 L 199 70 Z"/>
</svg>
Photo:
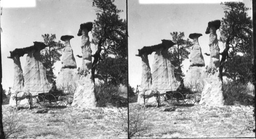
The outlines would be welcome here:
<svg viewBox="0 0 256 139">
<path fill-rule="evenodd" d="M 144 99 L 144 108 L 146 107 L 146 100 L 147 98 L 155 97 L 157 100 L 157 106 L 159 107 L 160 103 L 160 92 L 156 89 L 146 89 L 141 94 L 140 97 Z"/>
</svg>

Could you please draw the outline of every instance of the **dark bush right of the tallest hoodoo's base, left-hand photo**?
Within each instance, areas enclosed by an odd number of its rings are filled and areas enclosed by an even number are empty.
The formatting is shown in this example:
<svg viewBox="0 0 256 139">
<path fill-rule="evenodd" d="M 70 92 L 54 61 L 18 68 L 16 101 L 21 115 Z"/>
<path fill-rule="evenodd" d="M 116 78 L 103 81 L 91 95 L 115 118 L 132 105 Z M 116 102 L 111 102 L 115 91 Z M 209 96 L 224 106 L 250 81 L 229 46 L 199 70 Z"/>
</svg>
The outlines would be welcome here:
<svg viewBox="0 0 256 139">
<path fill-rule="evenodd" d="M 120 96 L 121 92 L 117 86 L 101 83 L 95 87 L 95 96 L 98 107 L 107 106 L 112 104 L 117 107 L 127 107 L 127 99 Z"/>
</svg>

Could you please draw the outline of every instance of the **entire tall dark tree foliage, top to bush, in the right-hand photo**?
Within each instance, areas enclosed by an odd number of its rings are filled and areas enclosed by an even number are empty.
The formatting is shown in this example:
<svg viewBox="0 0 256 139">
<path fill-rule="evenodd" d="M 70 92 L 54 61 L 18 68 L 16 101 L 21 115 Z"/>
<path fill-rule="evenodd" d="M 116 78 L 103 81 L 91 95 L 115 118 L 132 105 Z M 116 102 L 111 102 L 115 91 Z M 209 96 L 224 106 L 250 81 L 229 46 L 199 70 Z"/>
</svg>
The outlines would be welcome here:
<svg viewBox="0 0 256 139">
<path fill-rule="evenodd" d="M 242 2 L 225 2 L 221 5 L 225 16 L 221 20 L 220 41 L 226 46 L 222 52 L 222 62 L 229 58 L 224 66 L 221 64 L 223 75 L 243 83 L 252 81 L 252 21 L 247 14 L 249 8 Z"/>
</svg>

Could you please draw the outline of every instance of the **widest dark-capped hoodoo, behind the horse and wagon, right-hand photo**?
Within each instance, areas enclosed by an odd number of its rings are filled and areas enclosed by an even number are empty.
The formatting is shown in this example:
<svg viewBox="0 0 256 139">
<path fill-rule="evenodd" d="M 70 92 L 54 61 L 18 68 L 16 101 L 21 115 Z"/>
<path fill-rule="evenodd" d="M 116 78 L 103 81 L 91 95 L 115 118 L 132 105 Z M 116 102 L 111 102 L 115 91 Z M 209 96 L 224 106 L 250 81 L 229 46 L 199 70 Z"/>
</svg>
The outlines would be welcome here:
<svg viewBox="0 0 256 139">
<path fill-rule="evenodd" d="M 152 46 L 156 51 L 152 68 L 152 89 L 159 90 L 160 94 L 178 88 L 174 66 L 168 54 L 168 49 L 173 45 L 175 43 L 170 40 L 162 40 L 161 44 Z"/>
</svg>

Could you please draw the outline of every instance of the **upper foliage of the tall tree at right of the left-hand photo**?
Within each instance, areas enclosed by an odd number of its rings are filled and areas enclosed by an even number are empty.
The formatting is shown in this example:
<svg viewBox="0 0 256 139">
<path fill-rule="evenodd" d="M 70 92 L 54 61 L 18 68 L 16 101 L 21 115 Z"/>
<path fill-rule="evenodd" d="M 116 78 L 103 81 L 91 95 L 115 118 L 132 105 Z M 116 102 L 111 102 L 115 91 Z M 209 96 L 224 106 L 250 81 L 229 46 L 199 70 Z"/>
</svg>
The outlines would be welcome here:
<svg viewBox="0 0 256 139">
<path fill-rule="evenodd" d="M 126 21 L 119 17 L 122 10 L 113 3 L 114 0 L 93 1 L 97 19 L 94 20 L 92 43 L 101 46 L 103 53 L 126 58 Z"/>
</svg>

